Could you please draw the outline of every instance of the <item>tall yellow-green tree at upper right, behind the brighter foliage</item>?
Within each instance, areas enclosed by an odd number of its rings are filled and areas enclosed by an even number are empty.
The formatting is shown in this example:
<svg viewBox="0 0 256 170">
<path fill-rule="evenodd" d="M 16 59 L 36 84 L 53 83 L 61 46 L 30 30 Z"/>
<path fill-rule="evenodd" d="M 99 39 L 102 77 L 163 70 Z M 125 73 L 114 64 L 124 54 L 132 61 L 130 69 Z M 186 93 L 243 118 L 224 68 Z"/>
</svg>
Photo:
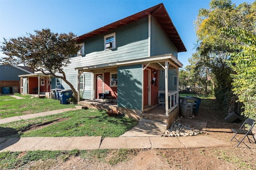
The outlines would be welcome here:
<svg viewBox="0 0 256 170">
<path fill-rule="evenodd" d="M 242 28 L 252 31 L 256 26 L 256 2 L 243 3 L 236 7 L 231 0 L 212 0 L 210 8 L 198 12 L 195 24 L 197 44 L 196 53 L 191 58 L 195 69 L 207 68 L 214 77 L 216 100 L 227 106 L 231 94 L 232 69 L 226 63 L 230 59 L 228 52 L 236 49 L 227 42 L 237 44 L 235 35 L 226 35 L 223 28 Z M 202 70 L 201 70 L 202 72 Z"/>
</svg>

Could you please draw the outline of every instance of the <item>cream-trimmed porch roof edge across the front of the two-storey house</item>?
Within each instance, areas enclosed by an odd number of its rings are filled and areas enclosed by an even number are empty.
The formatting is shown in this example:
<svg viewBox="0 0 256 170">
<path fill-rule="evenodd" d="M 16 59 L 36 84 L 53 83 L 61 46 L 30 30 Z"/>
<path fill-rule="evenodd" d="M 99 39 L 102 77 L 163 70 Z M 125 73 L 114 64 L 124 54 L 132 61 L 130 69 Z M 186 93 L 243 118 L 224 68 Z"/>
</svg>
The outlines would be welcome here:
<svg viewBox="0 0 256 170">
<path fill-rule="evenodd" d="M 164 66 L 164 62 L 168 61 L 170 63 L 170 66 L 173 66 L 174 68 L 182 67 L 183 64 L 178 61 L 172 54 L 166 54 L 166 55 L 158 55 L 153 57 L 146 57 L 143 59 L 133 59 L 128 61 L 116 61 L 112 63 L 106 63 L 106 64 L 97 64 L 97 65 L 91 65 L 91 66 L 84 66 L 84 67 L 76 67 L 75 70 L 79 71 L 85 71 L 85 72 L 95 72 L 99 69 L 106 69 L 106 68 L 114 68 L 117 66 L 125 66 L 125 65 L 131 65 L 131 64 L 148 64 L 148 63 L 160 63 Z M 156 66 L 152 66 L 153 68 L 156 68 Z M 157 66 L 158 70 L 162 70 L 162 66 Z M 102 71 L 101 71 L 102 72 Z"/>
</svg>

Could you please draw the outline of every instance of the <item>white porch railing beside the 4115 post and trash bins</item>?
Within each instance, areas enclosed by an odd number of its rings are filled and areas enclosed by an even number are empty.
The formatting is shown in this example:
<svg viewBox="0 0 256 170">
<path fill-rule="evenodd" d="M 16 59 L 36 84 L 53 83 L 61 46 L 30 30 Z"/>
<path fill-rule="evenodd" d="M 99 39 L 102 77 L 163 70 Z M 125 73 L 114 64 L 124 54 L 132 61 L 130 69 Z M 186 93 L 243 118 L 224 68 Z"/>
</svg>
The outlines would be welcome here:
<svg viewBox="0 0 256 170">
<path fill-rule="evenodd" d="M 159 90 L 158 91 L 158 96 L 160 95 L 160 93 L 165 94 L 164 90 Z M 169 100 L 170 99 L 170 100 Z M 165 107 L 165 114 L 166 116 L 168 116 L 168 114 L 175 109 L 178 104 L 179 104 L 179 91 L 176 90 L 168 90 L 168 100 L 165 101 L 166 106 Z"/>
</svg>

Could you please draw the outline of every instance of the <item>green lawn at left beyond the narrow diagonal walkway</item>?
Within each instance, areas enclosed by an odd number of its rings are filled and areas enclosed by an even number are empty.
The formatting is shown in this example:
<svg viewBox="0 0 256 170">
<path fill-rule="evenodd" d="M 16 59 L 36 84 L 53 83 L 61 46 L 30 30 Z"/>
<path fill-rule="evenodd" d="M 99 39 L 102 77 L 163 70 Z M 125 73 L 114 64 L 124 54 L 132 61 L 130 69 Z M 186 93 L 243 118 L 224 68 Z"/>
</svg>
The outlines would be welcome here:
<svg viewBox="0 0 256 170">
<path fill-rule="evenodd" d="M 20 100 L 1 100 L 1 98 L 2 96 L 0 96 L 0 119 L 56 109 L 74 108 L 73 104 L 60 104 L 60 101 L 58 100 L 47 98 L 29 98 Z"/>
</svg>

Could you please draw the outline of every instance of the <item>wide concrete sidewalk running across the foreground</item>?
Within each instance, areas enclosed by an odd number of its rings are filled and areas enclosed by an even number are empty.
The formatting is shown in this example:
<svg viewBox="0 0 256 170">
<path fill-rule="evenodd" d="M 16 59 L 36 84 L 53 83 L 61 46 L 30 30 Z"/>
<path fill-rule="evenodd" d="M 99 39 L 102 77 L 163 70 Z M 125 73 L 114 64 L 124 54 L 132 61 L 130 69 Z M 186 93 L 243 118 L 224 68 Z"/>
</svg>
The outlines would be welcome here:
<svg viewBox="0 0 256 170">
<path fill-rule="evenodd" d="M 229 143 L 207 137 L 22 137 L 0 138 L 0 152 L 28 150 L 170 149 L 224 147 Z"/>
</svg>

